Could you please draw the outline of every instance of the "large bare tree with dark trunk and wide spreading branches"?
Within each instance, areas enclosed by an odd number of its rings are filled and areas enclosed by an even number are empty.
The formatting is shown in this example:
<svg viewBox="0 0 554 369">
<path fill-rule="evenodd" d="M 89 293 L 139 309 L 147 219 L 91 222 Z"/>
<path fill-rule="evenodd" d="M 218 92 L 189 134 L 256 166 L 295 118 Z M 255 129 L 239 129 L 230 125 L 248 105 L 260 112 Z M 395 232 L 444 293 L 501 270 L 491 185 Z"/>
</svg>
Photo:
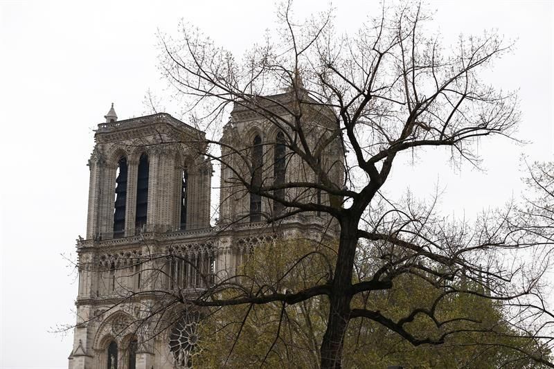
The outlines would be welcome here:
<svg viewBox="0 0 554 369">
<path fill-rule="evenodd" d="M 176 305 L 244 305 L 249 314 L 255 305 L 278 303 L 284 311 L 318 298 L 328 304 L 319 343 L 321 368 L 341 368 L 352 321 L 377 323 L 412 345 L 441 345 L 454 334 L 484 328 L 472 312 L 445 317 L 440 305 L 452 296 L 479 296 L 501 305 L 510 326 L 504 334 L 517 332 L 535 343 L 534 350 L 509 348 L 554 367 L 548 357 L 552 315 L 541 291 L 551 237 L 522 226 L 523 218 L 511 208 L 483 215 L 475 224 L 449 222 L 435 204 L 417 204 L 409 197 L 392 201 L 380 192 L 404 153 L 434 148 L 456 163 L 478 166 L 479 138 L 512 136 L 519 121 L 517 96 L 479 77 L 510 51 L 510 44 L 485 33 L 460 37 L 445 50 L 440 37 L 430 36 L 431 18 L 421 6 L 383 8 L 352 37 L 334 32 L 331 12 L 297 23 L 287 3 L 278 15 L 283 26 L 278 39 L 268 37 L 240 61 L 189 26 L 180 39 L 161 36 L 161 67 L 199 127 L 219 132 L 232 108 L 233 114 L 251 114 L 281 133 L 274 141 L 236 145 L 230 121 L 222 139 L 202 139 L 211 145 L 208 156 L 227 172 L 222 197 L 250 198 L 249 212 L 220 217 L 220 223 L 250 217 L 278 227 L 291 217 L 316 214 L 326 219 L 338 245 L 330 248 L 332 256 L 317 248 L 306 253 L 271 283 L 236 275 L 211 280 L 199 269 L 209 287 L 192 295 L 179 288 L 149 291 L 165 297 L 148 307 L 148 318 Z M 265 147 L 278 145 L 286 149 L 282 160 L 264 154 Z M 283 168 L 301 174 L 285 181 Z M 266 206 L 258 205 L 263 201 Z M 530 210 L 528 216 L 537 214 Z M 542 231 L 550 235 L 551 229 Z M 283 278 L 314 255 L 326 266 L 318 278 L 285 288 Z M 179 255 L 149 255 L 147 260 L 156 258 Z M 431 302 L 408 304 L 402 316 L 372 303 L 406 276 L 440 293 Z M 434 330 L 414 329 L 422 320 L 431 321 Z M 174 317 L 159 324 L 166 329 L 173 323 Z"/>
</svg>

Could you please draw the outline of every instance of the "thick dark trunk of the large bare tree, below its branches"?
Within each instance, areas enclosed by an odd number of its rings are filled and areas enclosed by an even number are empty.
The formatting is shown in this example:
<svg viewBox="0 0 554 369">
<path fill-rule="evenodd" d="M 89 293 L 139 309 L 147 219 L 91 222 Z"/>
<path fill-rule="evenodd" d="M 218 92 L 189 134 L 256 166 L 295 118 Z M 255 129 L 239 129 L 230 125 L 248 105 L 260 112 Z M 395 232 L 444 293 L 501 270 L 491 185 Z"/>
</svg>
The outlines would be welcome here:
<svg viewBox="0 0 554 369">
<path fill-rule="evenodd" d="M 337 265 L 334 269 L 327 330 L 321 343 L 321 368 L 337 369 L 342 365 L 343 339 L 350 313 L 352 267 L 357 244 L 357 224 L 341 224 Z"/>
</svg>

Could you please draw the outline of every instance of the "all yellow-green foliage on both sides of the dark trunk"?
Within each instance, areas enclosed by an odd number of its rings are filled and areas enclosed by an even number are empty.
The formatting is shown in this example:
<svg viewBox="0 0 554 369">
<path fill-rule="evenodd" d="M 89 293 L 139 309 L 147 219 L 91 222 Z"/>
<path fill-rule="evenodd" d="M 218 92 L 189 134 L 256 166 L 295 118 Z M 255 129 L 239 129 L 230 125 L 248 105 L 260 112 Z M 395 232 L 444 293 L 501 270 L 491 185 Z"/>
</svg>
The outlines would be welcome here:
<svg viewBox="0 0 554 369">
<path fill-rule="evenodd" d="M 242 266 L 240 282 L 259 294 L 294 292 L 325 283 L 333 263 L 333 246 L 278 240 L 251 253 Z M 467 282 L 461 287 L 485 292 Z M 435 339 L 446 336 L 441 345 L 413 346 L 379 323 L 353 319 L 344 338 L 343 367 L 538 368 L 529 354 L 549 354 L 542 343 L 510 328 L 494 300 L 454 291 L 439 298 L 444 292 L 419 276 L 404 274 L 390 290 L 357 295 L 352 308 L 378 310 L 393 321 L 414 309 L 429 309 L 438 300 L 435 315 L 449 323 L 437 326 L 425 314 L 417 314 L 406 324 L 411 334 Z M 238 294 L 229 290 L 222 298 Z M 202 322 L 202 339 L 193 362 L 202 368 L 319 368 L 327 319 L 326 296 L 296 305 L 276 302 L 219 307 Z"/>
</svg>

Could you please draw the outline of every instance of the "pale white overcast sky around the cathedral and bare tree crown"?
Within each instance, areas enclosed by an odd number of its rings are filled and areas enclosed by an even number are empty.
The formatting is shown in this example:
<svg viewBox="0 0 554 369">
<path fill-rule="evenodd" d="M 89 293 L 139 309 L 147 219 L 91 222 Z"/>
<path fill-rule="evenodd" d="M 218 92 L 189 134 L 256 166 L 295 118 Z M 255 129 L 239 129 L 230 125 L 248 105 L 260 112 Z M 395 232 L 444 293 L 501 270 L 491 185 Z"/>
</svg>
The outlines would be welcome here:
<svg viewBox="0 0 554 369">
<path fill-rule="evenodd" d="M 299 16 L 326 6 L 295 4 Z M 344 32 L 377 8 L 361 0 L 334 6 Z M 426 198 L 438 183 L 443 212 L 471 217 L 520 195 L 521 154 L 553 159 L 553 2 L 434 1 L 429 7 L 437 10 L 445 45 L 459 33 L 493 28 L 517 41 L 486 78 L 519 89 L 518 137 L 530 143 L 483 141 L 484 171 L 453 169 L 445 155 L 429 152 L 395 169 L 388 184 L 391 192 L 409 186 Z M 71 256 L 85 232 L 93 129 L 111 102 L 120 119 L 141 116 L 148 89 L 179 116 L 157 69 L 157 29 L 175 34 L 184 18 L 240 55 L 273 29 L 274 10 L 273 1 L 0 0 L 1 368 L 67 367 L 72 333 L 48 331 L 75 319 L 75 275 L 62 254 Z"/>
</svg>

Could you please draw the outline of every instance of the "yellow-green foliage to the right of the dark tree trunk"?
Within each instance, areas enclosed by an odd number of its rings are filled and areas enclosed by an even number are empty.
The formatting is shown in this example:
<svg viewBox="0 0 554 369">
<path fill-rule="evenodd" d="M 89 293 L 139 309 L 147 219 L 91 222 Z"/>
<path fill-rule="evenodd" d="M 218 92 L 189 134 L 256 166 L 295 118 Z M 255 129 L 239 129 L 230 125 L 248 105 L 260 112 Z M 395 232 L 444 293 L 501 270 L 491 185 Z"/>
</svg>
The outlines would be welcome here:
<svg viewBox="0 0 554 369">
<path fill-rule="evenodd" d="M 460 287 L 465 291 L 485 292 L 476 284 L 465 283 Z M 393 364 L 405 368 L 541 367 L 530 355 L 544 359 L 548 350 L 524 332 L 513 330 L 503 320 L 499 303 L 454 290 L 440 298 L 444 292 L 422 278 L 406 274 L 395 280 L 391 290 L 372 292 L 365 296 L 364 302 L 353 303 L 386 312 L 394 321 L 415 309 L 430 309 L 436 303 L 435 316 L 442 325 L 437 326 L 425 314 L 418 314 L 406 327 L 422 339 L 439 339 L 445 335 L 445 343 L 413 346 L 379 323 L 358 319 L 350 322 L 345 338 L 345 367 L 386 368 Z"/>
</svg>

